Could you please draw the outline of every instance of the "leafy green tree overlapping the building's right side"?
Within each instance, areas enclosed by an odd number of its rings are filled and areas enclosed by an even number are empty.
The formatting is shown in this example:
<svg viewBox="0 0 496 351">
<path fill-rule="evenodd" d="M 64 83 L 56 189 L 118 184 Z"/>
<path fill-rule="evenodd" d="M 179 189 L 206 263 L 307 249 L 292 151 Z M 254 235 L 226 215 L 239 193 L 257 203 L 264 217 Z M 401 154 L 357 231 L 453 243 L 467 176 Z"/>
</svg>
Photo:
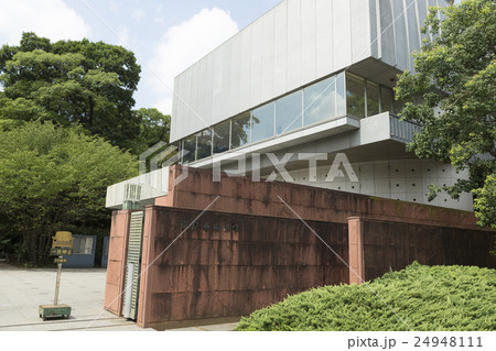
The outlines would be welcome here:
<svg viewBox="0 0 496 351">
<path fill-rule="evenodd" d="M 396 89 L 407 102 L 401 116 L 423 125 L 408 147 L 467 168 L 468 179 L 431 185 L 430 198 L 472 191 L 478 223 L 496 228 L 496 1 L 432 8 L 422 31 L 432 40 L 414 55 L 416 73 L 403 73 Z"/>
</svg>

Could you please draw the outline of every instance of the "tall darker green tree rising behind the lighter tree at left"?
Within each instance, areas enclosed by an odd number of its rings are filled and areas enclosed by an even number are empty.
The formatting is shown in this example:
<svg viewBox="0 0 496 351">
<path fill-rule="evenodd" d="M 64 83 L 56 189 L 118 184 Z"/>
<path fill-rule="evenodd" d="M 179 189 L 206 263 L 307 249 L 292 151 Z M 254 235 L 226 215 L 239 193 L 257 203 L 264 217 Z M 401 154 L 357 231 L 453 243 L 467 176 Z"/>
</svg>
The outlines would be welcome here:
<svg viewBox="0 0 496 351">
<path fill-rule="evenodd" d="M 82 124 L 132 149 L 140 133 L 132 111 L 139 79 L 134 54 L 121 46 L 23 33 L 19 46 L 0 50 L 0 118 Z"/>
</svg>

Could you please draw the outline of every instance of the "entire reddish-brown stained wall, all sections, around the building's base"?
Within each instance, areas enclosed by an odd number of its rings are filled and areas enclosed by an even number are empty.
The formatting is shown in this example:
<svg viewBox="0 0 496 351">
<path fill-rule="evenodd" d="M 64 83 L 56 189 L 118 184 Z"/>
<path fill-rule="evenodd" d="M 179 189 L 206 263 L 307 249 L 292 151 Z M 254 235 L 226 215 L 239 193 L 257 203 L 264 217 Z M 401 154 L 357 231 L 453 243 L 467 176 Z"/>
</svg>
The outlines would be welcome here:
<svg viewBox="0 0 496 351">
<path fill-rule="evenodd" d="M 170 168 L 169 195 L 145 211 L 138 304 L 143 327 L 246 315 L 287 294 L 360 283 L 414 260 L 494 266 L 488 256 L 494 231 L 477 229 L 472 212 L 247 177 L 223 175 L 215 183 L 212 171 L 195 168 L 174 185 L 184 171 Z M 183 222 L 209 205 L 201 227 L 191 228 L 154 261 L 181 233 Z M 293 210 L 337 248 L 352 270 L 316 241 Z M 129 213 L 112 217 L 105 306 L 117 315 Z M 209 226 L 204 229 L 205 222 Z"/>
</svg>

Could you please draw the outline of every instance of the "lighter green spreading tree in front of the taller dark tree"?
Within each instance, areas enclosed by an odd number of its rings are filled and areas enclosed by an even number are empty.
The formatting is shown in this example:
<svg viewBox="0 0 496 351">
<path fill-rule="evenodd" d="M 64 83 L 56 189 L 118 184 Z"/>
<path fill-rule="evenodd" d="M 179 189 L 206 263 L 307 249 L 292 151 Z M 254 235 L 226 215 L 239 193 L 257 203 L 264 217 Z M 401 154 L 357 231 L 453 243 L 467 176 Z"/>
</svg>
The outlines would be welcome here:
<svg viewBox="0 0 496 351">
<path fill-rule="evenodd" d="M 0 131 L 0 218 L 11 227 L 0 243 L 12 245 L 14 232 L 24 259 L 46 262 L 56 230 L 107 224 L 107 186 L 137 173 L 134 156 L 80 127 L 25 122 Z"/>
</svg>

